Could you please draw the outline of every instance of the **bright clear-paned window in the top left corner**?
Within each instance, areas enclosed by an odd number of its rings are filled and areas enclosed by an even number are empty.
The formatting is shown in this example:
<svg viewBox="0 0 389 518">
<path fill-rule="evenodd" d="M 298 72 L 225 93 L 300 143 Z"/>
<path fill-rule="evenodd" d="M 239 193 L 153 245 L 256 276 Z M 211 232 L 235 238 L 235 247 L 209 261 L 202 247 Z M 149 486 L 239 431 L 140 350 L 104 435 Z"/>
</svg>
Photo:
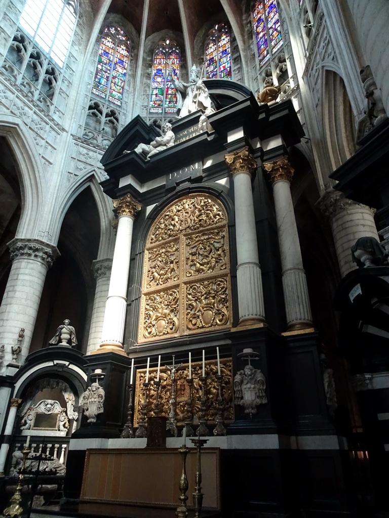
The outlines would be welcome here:
<svg viewBox="0 0 389 518">
<path fill-rule="evenodd" d="M 75 0 L 27 0 L 20 26 L 60 67 L 72 40 L 77 20 Z"/>
</svg>

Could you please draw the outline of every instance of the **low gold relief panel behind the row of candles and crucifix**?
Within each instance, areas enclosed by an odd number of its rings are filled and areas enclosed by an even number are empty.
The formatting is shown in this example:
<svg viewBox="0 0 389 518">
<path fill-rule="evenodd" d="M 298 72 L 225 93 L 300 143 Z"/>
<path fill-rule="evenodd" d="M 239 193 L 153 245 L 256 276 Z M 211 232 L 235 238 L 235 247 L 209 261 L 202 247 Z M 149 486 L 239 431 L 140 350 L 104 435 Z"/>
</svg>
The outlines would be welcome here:
<svg viewBox="0 0 389 518">
<path fill-rule="evenodd" d="M 198 415 L 201 405 L 201 380 L 202 362 L 192 363 L 192 413 Z M 189 387 L 186 382 L 189 376 L 188 364 L 183 365 L 182 369 L 176 371 L 176 408 L 175 417 L 178 426 L 182 426 L 186 419 L 186 401 L 189 396 Z M 233 406 L 233 386 L 232 386 L 232 364 L 231 358 L 220 359 L 221 394 L 223 398 L 224 419 L 227 423 L 234 420 Z M 205 386 L 205 420 L 210 425 L 216 422 L 217 417 L 217 398 L 219 395 L 217 384 L 217 362 L 216 360 L 207 360 L 205 362 L 205 374 L 207 382 Z M 141 407 L 144 398 L 143 382 L 146 377 L 146 369 L 140 369 L 136 372 L 135 382 L 135 402 L 134 402 L 134 427 L 138 426 L 141 417 Z M 152 417 L 154 413 L 154 405 L 156 402 L 156 386 L 154 381 L 157 379 L 157 368 L 149 369 L 148 381 L 150 383 L 149 400 L 147 404 L 147 417 Z M 169 417 L 170 398 L 172 393 L 172 382 L 170 379 L 170 370 L 162 369 L 160 371 L 161 389 L 158 402 L 160 403 L 160 414 Z"/>
</svg>

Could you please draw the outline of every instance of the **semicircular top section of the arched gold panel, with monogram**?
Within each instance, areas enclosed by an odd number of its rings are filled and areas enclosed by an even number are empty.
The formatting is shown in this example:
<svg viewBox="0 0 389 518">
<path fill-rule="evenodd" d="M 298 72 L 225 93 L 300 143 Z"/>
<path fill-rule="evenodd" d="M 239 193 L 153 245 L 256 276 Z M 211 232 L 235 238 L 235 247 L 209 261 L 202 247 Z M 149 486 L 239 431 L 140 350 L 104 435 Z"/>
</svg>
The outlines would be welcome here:
<svg viewBox="0 0 389 518">
<path fill-rule="evenodd" d="M 190 195 L 168 207 L 150 229 L 148 243 L 177 237 L 185 230 L 198 230 L 226 220 L 224 211 L 209 196 Z"/>
</svg>

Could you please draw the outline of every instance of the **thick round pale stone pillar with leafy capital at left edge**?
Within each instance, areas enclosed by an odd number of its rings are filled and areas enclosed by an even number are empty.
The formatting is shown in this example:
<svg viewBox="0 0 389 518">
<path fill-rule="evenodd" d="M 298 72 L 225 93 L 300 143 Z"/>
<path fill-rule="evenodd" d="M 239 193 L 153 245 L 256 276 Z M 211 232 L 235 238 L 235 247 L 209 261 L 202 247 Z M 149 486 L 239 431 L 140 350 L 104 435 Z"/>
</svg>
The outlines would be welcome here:
<svg viewBox="0 0 389 518">
<path fill-rule="evenodd" d="M 18 363 L 29 354 L 47 270 L 60 253 L 53 244 L 39 239 L 15 238 L 8 243 L 12 267 L 0 307 L 0 343 L 6 346 L 4 364 L 23 327 L 24 338 Z"/>
</svg>

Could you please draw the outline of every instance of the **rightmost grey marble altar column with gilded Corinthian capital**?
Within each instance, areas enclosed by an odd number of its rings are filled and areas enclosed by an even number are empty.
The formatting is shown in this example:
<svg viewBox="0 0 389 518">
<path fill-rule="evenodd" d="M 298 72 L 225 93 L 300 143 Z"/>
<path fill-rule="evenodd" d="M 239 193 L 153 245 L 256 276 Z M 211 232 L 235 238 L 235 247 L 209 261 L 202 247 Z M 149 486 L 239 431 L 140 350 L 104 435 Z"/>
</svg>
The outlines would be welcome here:
<svg viewBox="0 0 389 518">
<path fill-rule="evenodd" d="M 309 329 L 313 327 L 311 306 L 290 194 L 294 169 L 285 156 L 263 166 L 273 186 L 288 331 Z"/>
</svg>

